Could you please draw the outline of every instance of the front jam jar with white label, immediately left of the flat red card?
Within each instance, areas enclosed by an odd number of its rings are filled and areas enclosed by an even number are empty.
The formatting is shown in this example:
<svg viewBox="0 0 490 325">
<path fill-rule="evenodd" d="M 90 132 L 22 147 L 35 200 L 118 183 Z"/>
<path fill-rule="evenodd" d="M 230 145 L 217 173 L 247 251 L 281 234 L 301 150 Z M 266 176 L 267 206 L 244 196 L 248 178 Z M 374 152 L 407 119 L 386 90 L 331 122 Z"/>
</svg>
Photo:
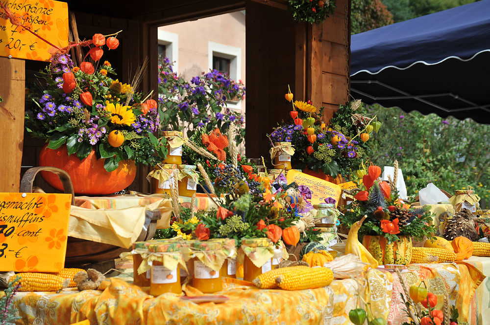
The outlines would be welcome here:
<svg viewBox="0 0 490 325">
<path fill-rule="evenodd" d="M 168 241 L 150 246 L 151 250 L 156 251 L 148 252 L 147 256 L 148 264 L 151 266 L 150 295 L 182 293 L 180 266 L 185 267 L 185 262 L 180 253 L 180 243 Z"/>
</svg>

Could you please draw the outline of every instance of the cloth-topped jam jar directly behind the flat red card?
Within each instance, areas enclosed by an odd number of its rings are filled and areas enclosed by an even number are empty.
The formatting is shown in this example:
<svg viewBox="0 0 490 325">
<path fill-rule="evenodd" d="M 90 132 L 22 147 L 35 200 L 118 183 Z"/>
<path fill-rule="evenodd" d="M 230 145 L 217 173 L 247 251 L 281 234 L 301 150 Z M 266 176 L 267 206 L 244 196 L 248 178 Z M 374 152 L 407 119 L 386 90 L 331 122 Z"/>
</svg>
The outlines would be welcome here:
<svg viewBox="0 0 490 325">
<path fill-rule="evenodd" d="M 193 253 L 189 262 L 192 286 L 203 293 L 221 291 L 221 266 L 226 259 L 221 242 L 195 241 L 189 249 Z"/>
</svg>

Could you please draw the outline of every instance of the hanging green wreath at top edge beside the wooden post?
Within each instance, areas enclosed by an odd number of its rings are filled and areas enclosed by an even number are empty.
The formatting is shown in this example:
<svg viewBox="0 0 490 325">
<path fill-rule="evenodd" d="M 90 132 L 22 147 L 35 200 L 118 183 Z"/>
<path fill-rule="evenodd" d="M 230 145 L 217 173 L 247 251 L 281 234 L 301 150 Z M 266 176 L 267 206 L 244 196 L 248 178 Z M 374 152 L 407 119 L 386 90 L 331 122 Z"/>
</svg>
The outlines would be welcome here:
<svg viewBox="0 0 490 325">
<path fill-rule="evenodd" d="M 335 0 L 288 0 L 288 10 L 297 22 L 321 23 L 332 15 Z"/>
</svg>

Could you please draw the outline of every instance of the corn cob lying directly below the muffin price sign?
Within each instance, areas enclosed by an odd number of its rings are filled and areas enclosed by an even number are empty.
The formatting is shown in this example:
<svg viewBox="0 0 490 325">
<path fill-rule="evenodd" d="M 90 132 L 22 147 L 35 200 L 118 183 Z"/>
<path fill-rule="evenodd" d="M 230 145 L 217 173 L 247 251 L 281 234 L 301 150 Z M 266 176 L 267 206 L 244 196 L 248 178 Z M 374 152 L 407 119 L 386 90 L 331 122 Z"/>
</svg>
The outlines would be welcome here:
<svg viewBox="0 0 490 325">
<path fill-rule="evenodd" d="M 19 291 L 59 291 L 70 284 L 70 280 L 60 276 L 36 272 L 14 274 L 9 281 L 13 281 L 16 276 L 21 278 L 18 281 L 21 283 Z"/>
</svg>

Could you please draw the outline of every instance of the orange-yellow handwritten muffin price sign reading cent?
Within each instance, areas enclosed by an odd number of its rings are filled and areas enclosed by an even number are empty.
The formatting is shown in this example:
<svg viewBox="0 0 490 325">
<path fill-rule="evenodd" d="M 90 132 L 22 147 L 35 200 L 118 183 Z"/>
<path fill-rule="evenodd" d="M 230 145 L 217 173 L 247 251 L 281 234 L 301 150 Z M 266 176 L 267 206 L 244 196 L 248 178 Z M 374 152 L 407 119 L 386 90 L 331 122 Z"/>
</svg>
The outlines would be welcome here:
<svg viewBox="0 0 490 325">
<path fill-rule="evenodd" d="M 71 194 L 0 193 L 0 271 L 65 265 Z"/>
</svg>

